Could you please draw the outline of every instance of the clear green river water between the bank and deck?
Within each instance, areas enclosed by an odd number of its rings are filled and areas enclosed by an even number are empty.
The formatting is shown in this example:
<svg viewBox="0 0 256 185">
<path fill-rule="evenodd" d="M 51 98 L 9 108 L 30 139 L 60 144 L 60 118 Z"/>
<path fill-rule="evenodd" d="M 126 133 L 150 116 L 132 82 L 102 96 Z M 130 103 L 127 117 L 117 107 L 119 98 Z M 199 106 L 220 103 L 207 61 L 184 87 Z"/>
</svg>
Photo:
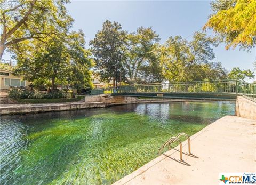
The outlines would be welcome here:
<svg viewBox="0 0 256 185">
<path fill-rule="evenodd" d="M 175 102 L 2 116 L 0 184 L 111 184 L 157 157 L 171 136 L 193 135 L 234 107 Z"/>
</svg>

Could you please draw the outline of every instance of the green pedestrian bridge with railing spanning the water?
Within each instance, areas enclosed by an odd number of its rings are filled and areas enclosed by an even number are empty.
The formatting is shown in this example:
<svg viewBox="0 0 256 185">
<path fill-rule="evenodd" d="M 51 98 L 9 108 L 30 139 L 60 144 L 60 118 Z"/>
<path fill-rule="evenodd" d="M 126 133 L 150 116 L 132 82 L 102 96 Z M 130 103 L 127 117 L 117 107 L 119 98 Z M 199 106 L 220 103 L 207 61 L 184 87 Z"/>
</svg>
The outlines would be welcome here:
<svg viewBox="0 0 256 185">
<path fill-rule="evenodd" d="M 236 80 L 123 85 L 105 91 L 113 96 L 195 100 L 235 100 L 242 95 L 256 101 L 256 84 Z"/>
</svg>

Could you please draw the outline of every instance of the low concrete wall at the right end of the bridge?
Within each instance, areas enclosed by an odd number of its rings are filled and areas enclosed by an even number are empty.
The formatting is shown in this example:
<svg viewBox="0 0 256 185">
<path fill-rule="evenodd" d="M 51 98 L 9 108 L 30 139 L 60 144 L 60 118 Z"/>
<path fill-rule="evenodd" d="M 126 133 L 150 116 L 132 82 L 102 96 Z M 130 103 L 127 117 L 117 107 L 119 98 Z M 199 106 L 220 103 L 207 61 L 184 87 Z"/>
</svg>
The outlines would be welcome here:
<svg viewBox="0 0 256 185">
<path fill-rule="evenodd" d="M 237 96 L 236 98 L 236 116 L 248 119 L 256 119 L 256 102 Z"/>
</svg>

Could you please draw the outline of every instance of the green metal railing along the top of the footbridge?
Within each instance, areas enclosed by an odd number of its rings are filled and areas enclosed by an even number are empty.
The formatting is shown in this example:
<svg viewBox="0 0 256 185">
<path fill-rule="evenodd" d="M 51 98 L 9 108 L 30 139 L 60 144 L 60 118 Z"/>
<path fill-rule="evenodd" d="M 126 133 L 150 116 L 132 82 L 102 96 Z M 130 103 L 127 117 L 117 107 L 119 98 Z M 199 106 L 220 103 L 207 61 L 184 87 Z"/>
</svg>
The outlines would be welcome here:
<svg viewBox="0 0 256 185">
<path fill-rule="evenodd" d="M 111 89 L 111 93 L 124 92 L 232 93 L 243 95 L 252 101 L 256 101 L 256 84 L 236 80 L 135 84 L 118 86 Z"/>
</svg>

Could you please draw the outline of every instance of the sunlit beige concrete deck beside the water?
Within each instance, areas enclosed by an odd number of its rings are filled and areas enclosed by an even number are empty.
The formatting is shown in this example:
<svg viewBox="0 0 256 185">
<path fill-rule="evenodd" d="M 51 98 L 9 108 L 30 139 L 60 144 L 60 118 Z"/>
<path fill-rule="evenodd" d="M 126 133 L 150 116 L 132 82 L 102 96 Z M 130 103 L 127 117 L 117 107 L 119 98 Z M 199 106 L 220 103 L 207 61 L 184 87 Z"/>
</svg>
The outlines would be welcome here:
<svg viewBox="0 0 256 185">
<path fill-rule="evenodd" d="M 219 184 L 221 172 L 256 172 L 256 120 L 225 116 L 117 184 Z"/>
</svg>

